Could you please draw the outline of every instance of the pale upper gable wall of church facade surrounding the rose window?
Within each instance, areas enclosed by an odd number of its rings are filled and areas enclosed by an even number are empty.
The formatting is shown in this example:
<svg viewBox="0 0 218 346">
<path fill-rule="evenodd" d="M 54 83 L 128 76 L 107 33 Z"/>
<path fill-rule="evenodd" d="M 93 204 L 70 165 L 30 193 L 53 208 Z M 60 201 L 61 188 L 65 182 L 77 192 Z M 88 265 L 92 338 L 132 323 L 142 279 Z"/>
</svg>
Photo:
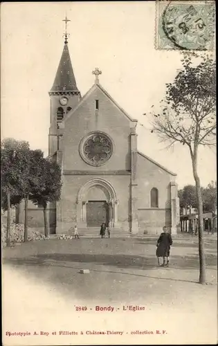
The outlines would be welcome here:
<svg viewBox="0 0 218 346">
<path fill-rule="evenodd" d="M 89 160 L 85 159 L 84 143 L 89 136 L 99 134 L 109 138 L 112 154 L 106 163 L 98 166 L 98 171 L 129 170 L 129 135 L 131 127 L 135 125 L 136 122 L 118 106 L 105 89 L 94 84 L 64 120 L 64 169 L 96 172 L 97 168 L 89 165 Z"/>
</svg>

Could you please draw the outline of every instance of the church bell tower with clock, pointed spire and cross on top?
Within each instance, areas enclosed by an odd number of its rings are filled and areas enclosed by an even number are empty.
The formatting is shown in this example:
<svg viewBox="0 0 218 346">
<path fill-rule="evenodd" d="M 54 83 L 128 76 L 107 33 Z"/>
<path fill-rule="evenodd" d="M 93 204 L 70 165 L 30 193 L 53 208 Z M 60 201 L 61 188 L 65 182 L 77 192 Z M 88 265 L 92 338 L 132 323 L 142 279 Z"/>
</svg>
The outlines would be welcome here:
<svg viewBox="0 0 218 346">
<path fill-rule="evenodd" d="M 60 149 L 59 139 L 62 136 L 64 117 L 71 109 L 75 108 L 81 98 L 75 81 L 68 48 L 69 34 L 66 32 L 66 26 L 70 20 L 65 18 L 63 21 L 65 22 L 64 49 L 53 86 L 49 91 L 51 116 L 48 135 L 48 155 L 52 155 Z"/>
</svg>

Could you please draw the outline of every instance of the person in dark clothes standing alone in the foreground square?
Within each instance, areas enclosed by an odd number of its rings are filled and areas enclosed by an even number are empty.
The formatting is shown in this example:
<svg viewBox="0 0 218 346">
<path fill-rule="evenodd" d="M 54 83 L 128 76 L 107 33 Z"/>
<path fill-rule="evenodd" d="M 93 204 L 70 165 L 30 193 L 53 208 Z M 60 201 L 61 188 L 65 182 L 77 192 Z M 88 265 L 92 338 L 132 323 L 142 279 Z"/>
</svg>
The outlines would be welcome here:
<svg viewBox="0 0 218 346">
<path fill-rule="evenodd" d="M 158 257 L 158 265 L 160 265 L 159 257 L 163 257 L 161 266 L 169 266 L 170 246 L 172 245 L 172 237 L 167 233 L 167 227 L 163 227 L 163 233 L 157 241 L 156 256 Z"/>
</svg>

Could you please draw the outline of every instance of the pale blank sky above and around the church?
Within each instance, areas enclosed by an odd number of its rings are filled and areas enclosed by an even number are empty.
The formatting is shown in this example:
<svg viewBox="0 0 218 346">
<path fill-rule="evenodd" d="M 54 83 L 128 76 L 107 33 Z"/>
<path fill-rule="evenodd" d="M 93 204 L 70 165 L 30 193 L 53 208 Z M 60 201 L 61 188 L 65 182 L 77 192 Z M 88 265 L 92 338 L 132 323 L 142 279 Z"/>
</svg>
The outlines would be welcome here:
<svg viewBox="0 0 218 346">
<path fill-rule="evenodd" d="M 177 174 L 179 188 L 194 184 L 188 148 L 171 149 L 150 132 L 149 113 L 165 84 L 181 69 L 179 51 L 155 48 L 155 1 L 1 3 L 1 139 L 28 140 L 48 154 L 50 98 L 68 25 L 73 71 L 82 95 L 100 84 L 138 119 L 138 149 Z M 216 180 L 215 149 L 199 151 L 202 185 Z"/>
</svg>

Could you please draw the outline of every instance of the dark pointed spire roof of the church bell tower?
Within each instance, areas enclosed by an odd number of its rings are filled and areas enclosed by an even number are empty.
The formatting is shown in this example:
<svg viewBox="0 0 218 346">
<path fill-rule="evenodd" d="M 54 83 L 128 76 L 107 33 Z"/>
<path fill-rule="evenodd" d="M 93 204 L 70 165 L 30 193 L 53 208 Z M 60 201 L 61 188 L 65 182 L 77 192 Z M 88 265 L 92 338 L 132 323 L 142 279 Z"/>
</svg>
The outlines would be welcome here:
<svg viewBox="0 0 218 346">
<path fill-rule="evenodd" d="M 71 57 L 67 43 L 64 44 L 62 57 L 55 75 L 55 81 L 51 88 L 51 92 L 74 92 L 80 93 L 75 82 Z"/>
</svg>

